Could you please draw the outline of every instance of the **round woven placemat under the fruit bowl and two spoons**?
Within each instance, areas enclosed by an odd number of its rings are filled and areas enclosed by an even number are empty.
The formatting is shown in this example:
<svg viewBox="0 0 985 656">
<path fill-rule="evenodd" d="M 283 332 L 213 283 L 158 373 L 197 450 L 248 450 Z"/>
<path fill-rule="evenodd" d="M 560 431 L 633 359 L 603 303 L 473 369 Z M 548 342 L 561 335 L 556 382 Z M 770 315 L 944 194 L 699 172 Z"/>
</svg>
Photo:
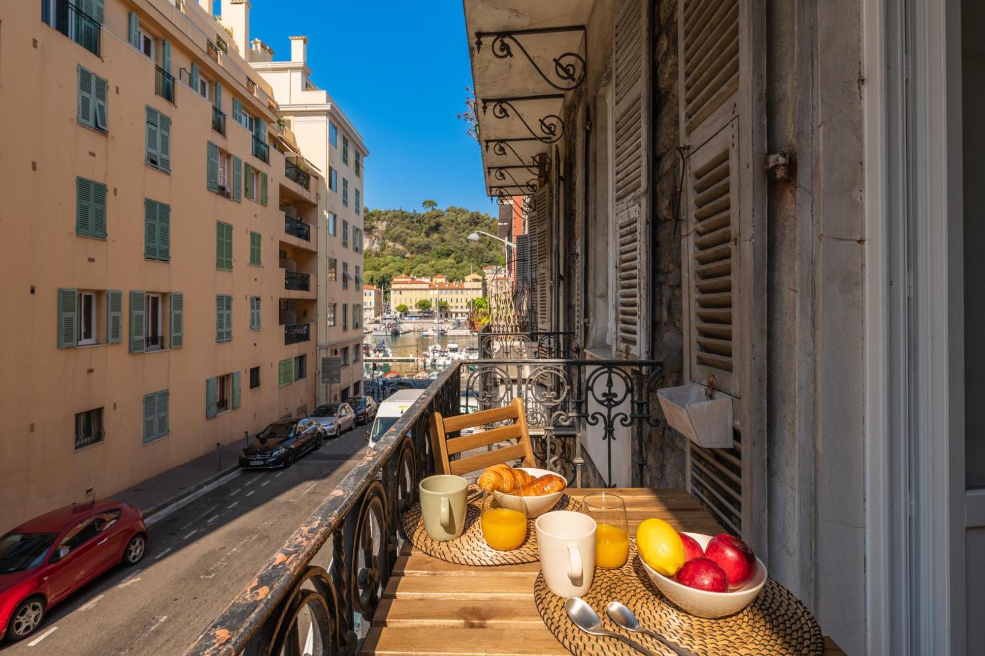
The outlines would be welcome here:
<svg viewBox="0 0 985 656">
<path fill-rule="evenodd" d="M 592 587 L 582 597 L 602 618 L 606 628 L 630 637 L 655 654 L 674 652 L 643 633 L 630 633 L 606 615 L 606 604 L 621 601 L 641 626 L 663 634 L 695 656 L 821 656 L 821 627 L 804 604 L 782 585 L 768 579 L 755 601 L 739 613 L 720 620 L 696 618 L 664 597 L 636 558 L 630 539 L 629 559 L 619 569 L 595 568 Z M 621 640 L 585 633 L 564 611 L 564 599 L 548 589 L 544 573 L 534 583 L 534 603 L 547 627 L 572 654 L 625 654 L 638 652 Z"/>
</svg>

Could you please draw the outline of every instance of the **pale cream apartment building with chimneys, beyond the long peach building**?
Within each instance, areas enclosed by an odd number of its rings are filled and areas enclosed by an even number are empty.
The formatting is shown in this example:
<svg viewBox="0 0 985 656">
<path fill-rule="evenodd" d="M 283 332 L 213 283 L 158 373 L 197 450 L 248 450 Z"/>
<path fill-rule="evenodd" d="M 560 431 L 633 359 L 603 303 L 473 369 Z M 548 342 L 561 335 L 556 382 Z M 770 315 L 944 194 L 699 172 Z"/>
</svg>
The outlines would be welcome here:
<svg viewBox="0 0 985 656">
<path fill-rule="evenodd" d="M 241 33 L 248 38 L 248 29 Z M 307 37 L 291 37 L 289 60 L 275 60 L 260 39 L 250 48 L 250 65 L 278 100 L 281 132 L 318 172 L 318 355 L 319 362 L 340 363 L 338 382 L 319 381 L 318 399 L 345 400 L 362 393 L 362 180 L 369 152 L 335 100 L 311 82 Z"/>
</svg>

